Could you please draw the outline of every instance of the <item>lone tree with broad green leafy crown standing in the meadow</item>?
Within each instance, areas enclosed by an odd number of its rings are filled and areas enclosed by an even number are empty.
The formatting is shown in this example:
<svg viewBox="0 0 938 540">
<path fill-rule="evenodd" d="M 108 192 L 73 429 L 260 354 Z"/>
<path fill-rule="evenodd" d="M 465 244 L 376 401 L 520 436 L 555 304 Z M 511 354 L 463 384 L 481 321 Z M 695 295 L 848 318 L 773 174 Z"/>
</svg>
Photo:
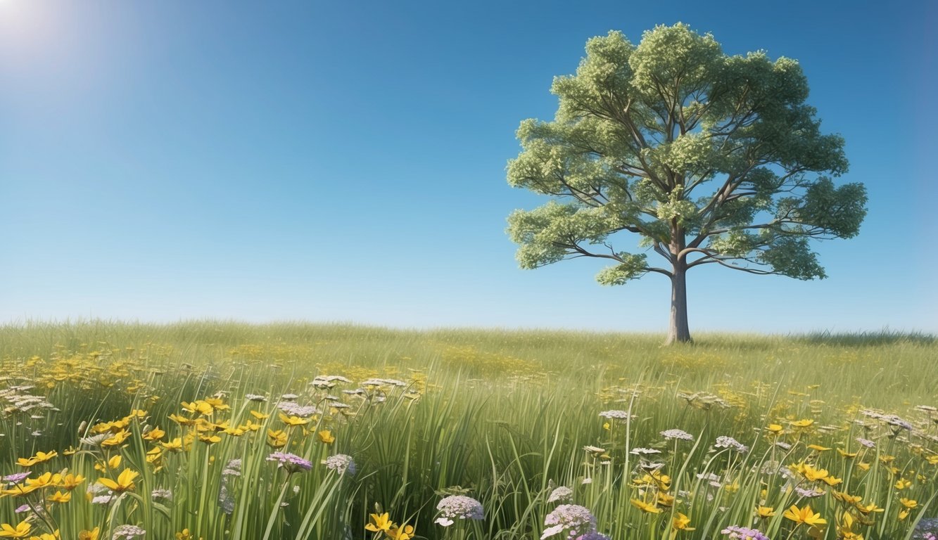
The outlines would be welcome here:
<svg viewBox="0 0 938 540">
<path fill-rule="evenodd" d="M 866 216 L 843 139 L 821 133 L 797 62 L 764 52 L 728 56 L 685 24 L 586 42 L 576 75 L 556 77 L 552 122 L 525 120 L 508 183 L 561 200 L 508 217 L 522 268 L 608 259 L 597 275 L 621 285 L 671 279 L 668 343 L 689 341 L 689 269 L 825 278 L 809 239 L 850 238 Z M 638 235 L 645 253 L 613 248 Z"/>
</svg>

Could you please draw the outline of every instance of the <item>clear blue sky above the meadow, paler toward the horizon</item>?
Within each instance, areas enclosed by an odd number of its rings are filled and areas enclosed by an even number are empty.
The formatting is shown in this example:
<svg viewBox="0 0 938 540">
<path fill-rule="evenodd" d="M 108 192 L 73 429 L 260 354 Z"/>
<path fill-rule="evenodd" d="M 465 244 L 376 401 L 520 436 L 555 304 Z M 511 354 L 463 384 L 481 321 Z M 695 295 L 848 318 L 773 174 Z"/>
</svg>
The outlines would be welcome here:
<svg viewBox="0 0 938 540">
<path fill-rule="evenodd" d="M 938 331 L 928 0 L 0 0 L 0 323 L 663 332 L 663 276 L 518 268 L 505 166 L 586 39 L 679 21 L 797 59 L 870 195 L 825 280 L 694 269 L 691 332 Z"/>
</svg>

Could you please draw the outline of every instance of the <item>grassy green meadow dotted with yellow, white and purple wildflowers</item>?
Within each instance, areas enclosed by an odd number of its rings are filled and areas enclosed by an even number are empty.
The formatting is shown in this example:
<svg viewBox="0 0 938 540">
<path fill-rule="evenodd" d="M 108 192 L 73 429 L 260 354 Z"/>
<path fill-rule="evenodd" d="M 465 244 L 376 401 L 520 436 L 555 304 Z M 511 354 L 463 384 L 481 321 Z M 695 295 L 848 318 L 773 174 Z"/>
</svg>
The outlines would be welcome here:
<svg viewBox="0 0 938 540">
<path fill-rule="evenodd" d="M 0 327 L 0 537 L 929 537 L 938 340 L 695 338 Z"/>
</svg>

